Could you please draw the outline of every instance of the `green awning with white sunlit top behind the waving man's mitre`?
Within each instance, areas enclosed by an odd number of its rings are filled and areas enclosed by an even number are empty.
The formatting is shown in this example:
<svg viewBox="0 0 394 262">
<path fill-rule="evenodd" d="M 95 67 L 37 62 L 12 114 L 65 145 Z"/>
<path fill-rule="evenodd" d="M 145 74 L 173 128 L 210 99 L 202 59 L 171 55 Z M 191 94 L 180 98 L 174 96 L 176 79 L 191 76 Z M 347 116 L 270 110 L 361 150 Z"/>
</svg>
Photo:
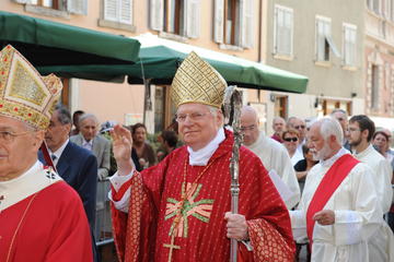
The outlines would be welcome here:
<svg viewBox="0 0 394 262">
<path fill-rule="evenodd" d="M 196 51 L 219 71 L 228 84 L 292 93 L 304 93 L 306 90 L 308 78 L 304 75 L 150 34 L 135 39 L 141 43 L 141 49 L 140 60 L 131 66 L 130 84 L 142 83 L 143 79 L 153 84 L 171 84 L 179 63 L 190 51 Z"/>
</svg>

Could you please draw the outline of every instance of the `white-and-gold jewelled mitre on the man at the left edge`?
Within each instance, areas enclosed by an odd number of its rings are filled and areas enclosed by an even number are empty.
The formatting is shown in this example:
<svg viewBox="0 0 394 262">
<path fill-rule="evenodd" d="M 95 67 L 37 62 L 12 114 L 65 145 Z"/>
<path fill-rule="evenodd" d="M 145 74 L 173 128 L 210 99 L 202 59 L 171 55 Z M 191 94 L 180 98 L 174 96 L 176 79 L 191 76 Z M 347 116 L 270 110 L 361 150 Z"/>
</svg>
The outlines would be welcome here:
<svg viewBox="0 0 394 262">
<path fill-rule="evenodd" d="M 0 115 L 46 129 L 62 84 L 55 74 L 42 76 L 12 46 L 0 52 Z"/>
</svg>

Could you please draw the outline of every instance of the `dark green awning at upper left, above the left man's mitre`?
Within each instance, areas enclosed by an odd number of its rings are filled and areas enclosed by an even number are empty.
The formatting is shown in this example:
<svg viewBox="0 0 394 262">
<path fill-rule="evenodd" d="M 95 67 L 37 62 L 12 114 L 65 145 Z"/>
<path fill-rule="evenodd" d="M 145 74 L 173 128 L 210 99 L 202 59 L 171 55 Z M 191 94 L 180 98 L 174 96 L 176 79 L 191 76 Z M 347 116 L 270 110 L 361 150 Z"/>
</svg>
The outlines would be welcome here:
<svg viewBox="0 0 394 262">
<path fill-rule="evenodd" d="M 0 11 L 0 48 L 8 44 L 43 74 L 89 79 L 119 75 L 108 66 L 125 70 L 140 48 L 128 37 Z"/>
</svg>

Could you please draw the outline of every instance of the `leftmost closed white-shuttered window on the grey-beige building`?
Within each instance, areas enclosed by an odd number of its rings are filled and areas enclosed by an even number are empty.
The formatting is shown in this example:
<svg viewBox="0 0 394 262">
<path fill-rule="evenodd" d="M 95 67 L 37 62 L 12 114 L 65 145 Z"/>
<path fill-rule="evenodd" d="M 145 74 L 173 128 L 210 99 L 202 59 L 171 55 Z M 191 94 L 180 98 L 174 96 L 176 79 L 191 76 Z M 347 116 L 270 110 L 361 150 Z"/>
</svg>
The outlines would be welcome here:
<svg viewBox="0 0 394 262">
<path fill-rule="evenodd" d="M 292 56 L 293 11 L 281 5 L 275 5 L 274 52 Z"/>
</svg>

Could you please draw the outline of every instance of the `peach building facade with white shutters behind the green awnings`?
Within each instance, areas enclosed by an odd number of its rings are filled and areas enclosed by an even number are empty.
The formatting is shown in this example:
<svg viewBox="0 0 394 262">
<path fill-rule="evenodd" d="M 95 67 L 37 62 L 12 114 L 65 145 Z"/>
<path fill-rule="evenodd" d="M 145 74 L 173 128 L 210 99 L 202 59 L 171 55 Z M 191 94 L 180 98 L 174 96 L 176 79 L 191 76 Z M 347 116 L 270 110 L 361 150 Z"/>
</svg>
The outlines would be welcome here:
<svg viewBox="0 0 394 262">
<path fill-rule="evenodd" d="M 258 61 L 262 1 L 257 0 L 4 0 L 1 10 L 127 37 L 144 33 Z M 71 79 L 63 103 L 100 121 L 142 121 L 143 85 Z M 171 122 L 169 86 L 151 86 L 146 123 L 158 132 Z M 153 123 L 157 124 L 153 124 Z"/>
</svg>

